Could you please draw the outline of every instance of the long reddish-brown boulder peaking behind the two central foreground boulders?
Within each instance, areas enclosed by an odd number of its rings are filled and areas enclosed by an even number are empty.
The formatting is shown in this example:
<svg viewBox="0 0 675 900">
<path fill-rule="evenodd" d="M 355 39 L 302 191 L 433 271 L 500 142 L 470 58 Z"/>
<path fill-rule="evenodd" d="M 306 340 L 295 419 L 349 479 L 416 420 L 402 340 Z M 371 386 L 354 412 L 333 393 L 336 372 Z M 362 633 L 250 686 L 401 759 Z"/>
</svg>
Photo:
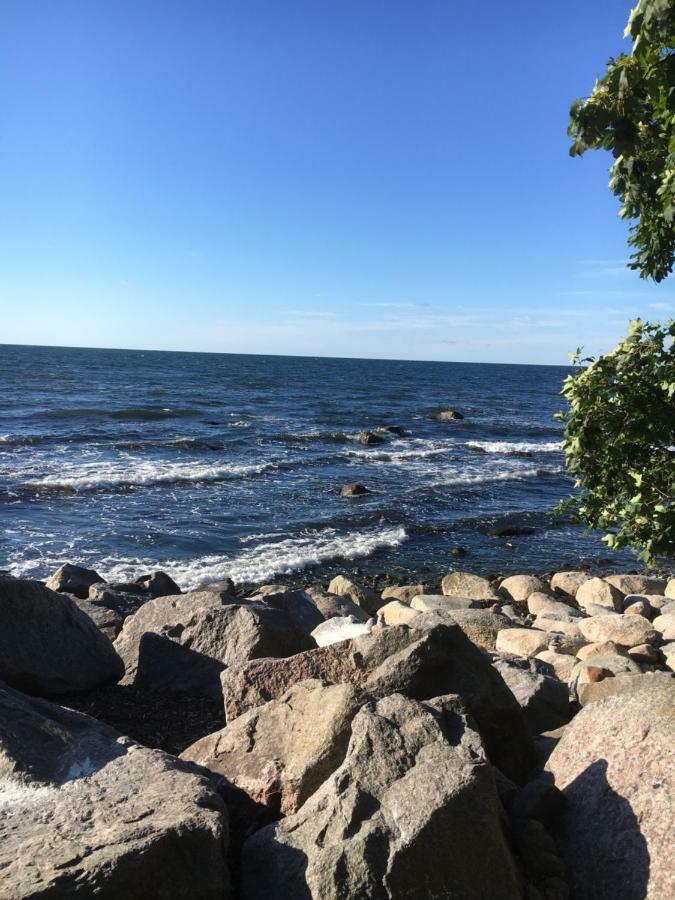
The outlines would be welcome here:
<svg viewBox="0 0 675 900">
<path fill-rule="evenodd" d="M 401 693 L 427 700 L 459 694 L 496 766 L 521 781 L 534 764 L 534 745 L 520 706 L 455 622 L 420 613 L 411 626 L 374 628 L 348 643 L 232 667 L 221 676 L 228 721 L 306 678 L 351 682 L 376 697 Z"/>
</svg>

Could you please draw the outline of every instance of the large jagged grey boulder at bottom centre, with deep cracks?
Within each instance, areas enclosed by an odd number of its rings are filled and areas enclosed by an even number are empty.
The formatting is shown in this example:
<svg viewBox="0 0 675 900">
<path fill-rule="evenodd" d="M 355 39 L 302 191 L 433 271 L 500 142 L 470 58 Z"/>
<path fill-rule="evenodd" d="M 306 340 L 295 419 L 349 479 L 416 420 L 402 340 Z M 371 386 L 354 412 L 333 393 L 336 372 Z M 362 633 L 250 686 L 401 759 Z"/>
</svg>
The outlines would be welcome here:
<svg viewBox="0 0 675 900">
<path fill-rule="evenodd" d="M 244 845 L 242 894 L 521 898 L 494 775 L 456 702 L 393 695 L 364 707 L 340 768 Z"/>
</svg>

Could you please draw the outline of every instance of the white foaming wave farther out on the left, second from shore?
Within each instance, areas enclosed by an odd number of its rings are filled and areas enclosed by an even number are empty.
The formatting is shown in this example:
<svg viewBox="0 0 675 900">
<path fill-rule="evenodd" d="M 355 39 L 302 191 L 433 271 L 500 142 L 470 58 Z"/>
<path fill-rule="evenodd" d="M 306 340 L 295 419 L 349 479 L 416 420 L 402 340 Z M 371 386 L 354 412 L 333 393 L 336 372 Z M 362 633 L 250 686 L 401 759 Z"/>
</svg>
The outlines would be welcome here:
<svg viewBox="0 0 675 900">
<path fill-rule="evenodd" d="M 113 465 L 85 463 L 72 475 L 62 473 L 24 482 L 34 490 L 96 491 L 105 488 L 139 485 L 178 484 L 181 482 L 223 481 L 232 477 L 261 475 L 276 468 L 276 463 L 191 465 L 167 461 L 121 460 Z"/>
</svg>

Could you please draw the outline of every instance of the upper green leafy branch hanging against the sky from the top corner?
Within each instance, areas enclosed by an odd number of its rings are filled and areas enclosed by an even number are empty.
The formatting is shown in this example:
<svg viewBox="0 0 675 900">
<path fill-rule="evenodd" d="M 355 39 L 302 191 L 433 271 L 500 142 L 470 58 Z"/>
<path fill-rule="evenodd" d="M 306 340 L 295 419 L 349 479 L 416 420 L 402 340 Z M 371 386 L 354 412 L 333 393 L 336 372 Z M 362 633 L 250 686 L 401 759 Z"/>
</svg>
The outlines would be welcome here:
<svg viewBox="0 0 675 900">
<path fill-rule="evenodd" d="M 675 0 L 640 0 L 626 37 L 630 55 L 610 59 L 570 111 L 570 153 L 610 150 L 610 187 L 632 222 L 629 263 L 661 281 L 675 263 Z"/>
</svg>

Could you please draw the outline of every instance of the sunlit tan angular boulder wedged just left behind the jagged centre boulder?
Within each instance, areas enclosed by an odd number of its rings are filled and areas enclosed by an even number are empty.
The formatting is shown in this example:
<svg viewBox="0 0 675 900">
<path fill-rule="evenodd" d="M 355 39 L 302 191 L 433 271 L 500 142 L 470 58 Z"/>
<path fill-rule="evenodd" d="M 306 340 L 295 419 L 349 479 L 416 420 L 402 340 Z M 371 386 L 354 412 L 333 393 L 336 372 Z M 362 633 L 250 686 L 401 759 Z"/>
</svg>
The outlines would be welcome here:
<svg viewBox="0 0 675 900">
<path fill-rule="evenodd" d="M 342 763 L 366 699 L 352 684 L 301 681 L 197 741 L 181 759 L 224 775 L 271 818 L 292 815 Z"/>
</svg>

